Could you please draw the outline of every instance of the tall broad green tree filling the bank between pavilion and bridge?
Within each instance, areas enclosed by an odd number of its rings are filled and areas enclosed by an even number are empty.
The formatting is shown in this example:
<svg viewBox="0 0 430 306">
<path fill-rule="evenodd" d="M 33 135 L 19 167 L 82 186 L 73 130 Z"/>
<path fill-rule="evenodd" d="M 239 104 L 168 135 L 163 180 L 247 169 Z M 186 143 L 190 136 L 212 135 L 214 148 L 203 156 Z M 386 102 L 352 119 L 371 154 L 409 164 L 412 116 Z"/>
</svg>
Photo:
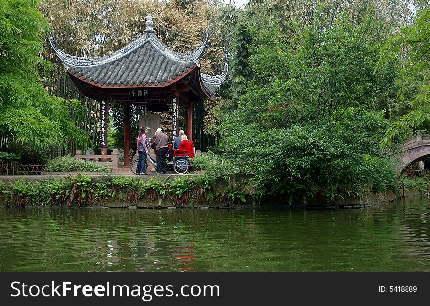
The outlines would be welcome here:
<svg viewBox="0 0 430 306">
<path fill-rule="evenodd" d="M 392 94 L 397 70 L 387 64 L 373 74 L 390 28 L 372 12 L 360 22 L 328 13 L 323 7 L 292 37 L 270 23 L 248 28 L 252 79 L 220 131 L 228 163 L 272 194 L 394 185 L 379 153 L 388 122 L 378 103 Z"/>
</svg>

